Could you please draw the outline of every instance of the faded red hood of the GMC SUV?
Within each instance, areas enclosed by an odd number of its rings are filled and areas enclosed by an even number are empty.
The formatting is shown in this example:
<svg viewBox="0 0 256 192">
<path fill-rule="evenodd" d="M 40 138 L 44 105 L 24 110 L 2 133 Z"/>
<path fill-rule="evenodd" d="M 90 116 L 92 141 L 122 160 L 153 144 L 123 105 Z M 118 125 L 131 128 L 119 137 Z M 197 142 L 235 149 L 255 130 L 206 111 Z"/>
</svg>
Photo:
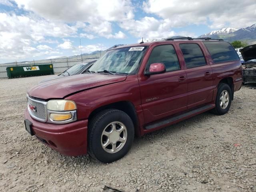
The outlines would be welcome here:
<svg viewBox="0 0 256 192">
<path fill-rule="evenodd" d="M 79 74 L 38 84 L 28 91 L 28 95 L 40 98 L 64 98 L 82 90 L 122 82 L 126 76 L 106 74 Z"/>
</svg>

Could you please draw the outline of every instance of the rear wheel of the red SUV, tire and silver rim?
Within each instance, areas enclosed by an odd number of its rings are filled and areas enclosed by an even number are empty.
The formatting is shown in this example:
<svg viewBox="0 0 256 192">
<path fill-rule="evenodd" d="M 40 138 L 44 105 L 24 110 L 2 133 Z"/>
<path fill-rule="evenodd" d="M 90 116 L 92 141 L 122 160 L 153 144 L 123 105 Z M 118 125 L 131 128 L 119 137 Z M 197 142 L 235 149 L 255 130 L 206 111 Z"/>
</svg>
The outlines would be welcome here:
<svg viewBox="0 0 256 192">
<path fill-rule="evenodd" d="M 228 84 L 222 83 L 218 86 L 218 92 L 215 100 L 215 108 L 212 113 L 224 115 L 228 112 L 232 101 L 232 91 Z"/>
</svg>

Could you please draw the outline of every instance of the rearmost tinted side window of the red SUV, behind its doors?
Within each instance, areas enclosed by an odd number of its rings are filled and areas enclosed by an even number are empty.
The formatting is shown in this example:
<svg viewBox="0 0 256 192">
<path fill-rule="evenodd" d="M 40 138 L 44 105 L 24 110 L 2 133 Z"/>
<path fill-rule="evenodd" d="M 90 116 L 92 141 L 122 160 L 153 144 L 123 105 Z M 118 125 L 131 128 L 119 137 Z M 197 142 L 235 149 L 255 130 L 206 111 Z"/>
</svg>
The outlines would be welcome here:
<svg viewBox="0 0 256 192">
<path fill-rule="evenodd" d="M 204 42 L 214 63 L 239 60 L 237 52 L 228 42 Z"/>
</svg>

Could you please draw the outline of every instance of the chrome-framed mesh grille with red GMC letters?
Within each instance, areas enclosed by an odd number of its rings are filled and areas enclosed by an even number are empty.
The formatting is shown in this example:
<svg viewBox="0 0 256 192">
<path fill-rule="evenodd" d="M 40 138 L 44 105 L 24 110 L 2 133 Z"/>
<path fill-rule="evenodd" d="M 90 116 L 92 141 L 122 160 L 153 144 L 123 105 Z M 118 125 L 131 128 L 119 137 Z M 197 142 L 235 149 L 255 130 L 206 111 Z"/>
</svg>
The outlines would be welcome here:
<svg viewBox="0 0 256 192">
<path fill-rule="evenodd" d="M 36 110 L 30 109 L 29 105 L 36 107 Z M 45 121 L 47 117 L 46 102 L 32 99 L 28 96 L 28 111 L 32 118 Z"/>
</svg>

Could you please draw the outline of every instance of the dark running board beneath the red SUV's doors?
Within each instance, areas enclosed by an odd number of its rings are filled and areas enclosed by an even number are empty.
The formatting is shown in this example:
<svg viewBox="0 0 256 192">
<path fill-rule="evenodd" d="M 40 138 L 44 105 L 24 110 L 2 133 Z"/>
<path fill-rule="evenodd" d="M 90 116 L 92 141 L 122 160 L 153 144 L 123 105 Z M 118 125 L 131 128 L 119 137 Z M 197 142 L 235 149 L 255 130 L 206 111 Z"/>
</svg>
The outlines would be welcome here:
<svg viewBox="0 0 256 192">
<path fill-rule="evenodd" d="M 145 129 L 149 130 L 149 129 L 153 129 L 153 128 L 156 128 L 156 127 L 159 127 L 159 126 L 162 126 L 162 125 L 165 125 L 165 124 L 169 124 L 171 122 L 180 120 L 180 119 L 182 119 L 186 116 L 190 116 L 190 115 L 193 115 L 193 114 L 199 114 L 200 112 L 207 111 L 207 110 L 210 110 L 212 108 L 213 108 L 213 105 L 210 105 L 210 104 L 204 105 L 204 106 L 198 107 L 196 109 L 190 110 L 188 112 L 179 114 L 177 116 L 173 116 L 171 118 L 160 120 L 158 122 L 149 124 L 149 125 L 145 126 Z"/>
</svg>

